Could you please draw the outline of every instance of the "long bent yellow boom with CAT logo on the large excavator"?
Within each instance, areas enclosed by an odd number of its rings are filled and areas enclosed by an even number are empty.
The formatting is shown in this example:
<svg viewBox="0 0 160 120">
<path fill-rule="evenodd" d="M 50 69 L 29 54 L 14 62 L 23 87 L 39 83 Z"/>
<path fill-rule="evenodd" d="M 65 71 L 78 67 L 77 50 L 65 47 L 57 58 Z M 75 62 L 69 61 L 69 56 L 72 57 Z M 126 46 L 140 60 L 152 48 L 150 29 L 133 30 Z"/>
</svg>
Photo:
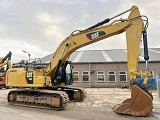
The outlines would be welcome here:
<svg viewBox="0 0 160 120">
<path fill-rule="evenodd" d="M 86 45 L 98 42 L 110 36 L 120 34 L 130 26 L 130 22 L 119 22 L 113 25 L 108 25 L 100 28 L 95 28 L 87 31 L 80 31 L 77 34 L 72 34 L 67 37 L 58 47 L 54 56 L 50 62 L 50 65 L 46 68 L 46 74 L 52 75 L 56 69 L 59 59 L 62 59 L 62 63 L 68 59 L 68 57 L 77 49 Z M 51 69 L 52 68 L 52 69 Z"/>
</svg>

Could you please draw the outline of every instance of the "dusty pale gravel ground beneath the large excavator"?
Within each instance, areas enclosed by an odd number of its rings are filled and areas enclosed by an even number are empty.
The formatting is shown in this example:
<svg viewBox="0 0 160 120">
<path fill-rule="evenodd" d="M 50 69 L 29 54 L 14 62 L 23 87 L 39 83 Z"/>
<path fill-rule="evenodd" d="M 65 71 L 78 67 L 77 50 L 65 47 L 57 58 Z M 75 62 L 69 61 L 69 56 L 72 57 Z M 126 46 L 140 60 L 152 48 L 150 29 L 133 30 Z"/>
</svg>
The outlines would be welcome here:
<svg viewBox="0 0 160 120">
<path fill-rule="evenodd" d="M 12 106 L 7 103 L 9 89 L 0 90 L 0 120 L 160 120 L 160 98 L 153 91 L 153 112 L 147 117 L 115 113 L 111 108 L 130 97 L 130 90 L 118 88 L 85 88 L 84 102 L 70 102 L 62 111 Z"/>
</svg>

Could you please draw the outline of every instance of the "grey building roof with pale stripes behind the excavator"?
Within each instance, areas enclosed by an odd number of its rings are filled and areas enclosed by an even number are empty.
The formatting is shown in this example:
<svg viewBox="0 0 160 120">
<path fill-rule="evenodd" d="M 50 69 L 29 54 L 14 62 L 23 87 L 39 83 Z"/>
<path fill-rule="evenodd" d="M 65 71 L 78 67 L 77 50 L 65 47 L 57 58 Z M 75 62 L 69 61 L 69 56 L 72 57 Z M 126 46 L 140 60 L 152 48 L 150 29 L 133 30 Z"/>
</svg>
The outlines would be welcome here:
<svg viewBox="0 0 160 120">
<path fill-rule="evenodd" d="M 144 51 L 140 50 L 139 61 L 144 61 Z M 160 61 L 160 48 L 149 48 L 149 61 Z M 54 53 L 41 58 L 42 63 L 48 63 Z M 98 63 L 98 62 L 127 62 L 126 49 L 112 50 L 84 50 L 75 51 L 71 54 L 70 61 L 73 63 Z"/>
</svg>

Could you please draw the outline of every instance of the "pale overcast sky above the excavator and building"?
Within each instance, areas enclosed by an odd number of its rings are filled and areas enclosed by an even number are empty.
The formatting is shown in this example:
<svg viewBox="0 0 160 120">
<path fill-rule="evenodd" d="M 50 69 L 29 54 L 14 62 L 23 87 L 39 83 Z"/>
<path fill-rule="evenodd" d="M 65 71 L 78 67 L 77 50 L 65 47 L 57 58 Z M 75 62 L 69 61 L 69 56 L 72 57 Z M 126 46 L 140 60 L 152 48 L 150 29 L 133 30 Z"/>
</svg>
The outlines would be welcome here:
<svg viewBox="0 0 160 120">
<path fill-rule="evenodd" d="M 160 0 L 0 0 L 0 57 L 12 62 L 53 53 L 74 30 L 86 29 L 132 5 L 149 18 L 148 46 L 160 47 Z M 125 34 L 79 50 L 124 49 Z"/>
</svg>

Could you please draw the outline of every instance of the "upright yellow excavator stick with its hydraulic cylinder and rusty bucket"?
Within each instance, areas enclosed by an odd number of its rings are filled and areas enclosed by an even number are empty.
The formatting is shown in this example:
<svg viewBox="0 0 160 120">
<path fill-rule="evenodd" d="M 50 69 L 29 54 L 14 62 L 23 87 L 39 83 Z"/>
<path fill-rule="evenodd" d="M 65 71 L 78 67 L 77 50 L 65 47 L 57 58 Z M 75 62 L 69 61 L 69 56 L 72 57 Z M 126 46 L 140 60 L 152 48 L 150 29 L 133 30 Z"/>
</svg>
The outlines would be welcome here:
<svg viewBox="0 0 160 120">
<path fill-rule="evenodd" d="M 128 19 L 133 20 L 135 16 L 139 17 L 139 11 L 134 9 L 133 14 L 130 14 Z M 144 26 L 142 20 L 136 19 L 131 22 L 126 29 L 126 39 L 127 39 L 127 62 L 128 62 L 128 72 L 131 82 L 131 98 L 124 100 L 121 104 L 117 104 L 113 107 L 117 113 L 128 114 L 133 116 L 147 116 L 152 112 L 153 103 L 152 94 L 148 91 L 148 77 L 151 73 L 148 71 L 148 46 L 147 46 L 147 23 Z M 138 72 L 138 60 L 140 53 L 140 42 L 143 36 L 144 42 L 144 59 L 146 61 L 146 71 Z M 144 76 L 143 84 L 139 84 L 136 81 L 137 75 Z"/>
</svg>

